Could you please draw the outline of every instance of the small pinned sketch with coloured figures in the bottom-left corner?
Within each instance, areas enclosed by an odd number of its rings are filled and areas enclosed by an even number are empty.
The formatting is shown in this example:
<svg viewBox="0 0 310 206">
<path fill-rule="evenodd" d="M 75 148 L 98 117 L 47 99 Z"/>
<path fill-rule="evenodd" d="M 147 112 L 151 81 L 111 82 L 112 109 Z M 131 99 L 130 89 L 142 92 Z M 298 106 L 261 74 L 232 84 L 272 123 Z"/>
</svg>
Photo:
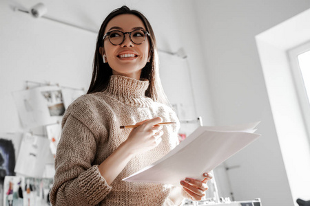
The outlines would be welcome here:
<svg viewBox="0 0 310 206">
<path fill-rule="evenodd" d="M 19 206 L 25 205 L 23 202 L 23 188 L 25 187 L 25 178 L 23 176 L 6 176 L 3 185 L 3 205 Z"/>
</svg>

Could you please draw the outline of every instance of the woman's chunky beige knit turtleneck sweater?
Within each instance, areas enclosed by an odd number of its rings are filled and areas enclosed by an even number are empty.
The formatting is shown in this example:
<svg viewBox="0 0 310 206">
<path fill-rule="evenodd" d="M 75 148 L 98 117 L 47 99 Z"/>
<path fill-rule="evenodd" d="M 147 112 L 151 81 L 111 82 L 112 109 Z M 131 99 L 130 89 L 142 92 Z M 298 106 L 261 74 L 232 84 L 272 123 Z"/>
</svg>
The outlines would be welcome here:
<svg viewBox="0 0 310 206">
<path fill-rule="evenodd" d="M 145 97 L 147 80 L 112 76 L 103 92 L 83 95 L 74 101 L 63 117 L 63 131 L 56 152 L 52 205 L 169 205 L 171 188 L 153 183 L 122 181 L 134 172 L 157 161 L 178 142 L 179 124 L 163 126 L 163 141 L 154 149 L 136 155 L 107 185 L 101 164 L 127 139 L 131 129 L 121 125 L 162 117 L 163 122 L 178 122 L 176 113 Z"/>
</svg>

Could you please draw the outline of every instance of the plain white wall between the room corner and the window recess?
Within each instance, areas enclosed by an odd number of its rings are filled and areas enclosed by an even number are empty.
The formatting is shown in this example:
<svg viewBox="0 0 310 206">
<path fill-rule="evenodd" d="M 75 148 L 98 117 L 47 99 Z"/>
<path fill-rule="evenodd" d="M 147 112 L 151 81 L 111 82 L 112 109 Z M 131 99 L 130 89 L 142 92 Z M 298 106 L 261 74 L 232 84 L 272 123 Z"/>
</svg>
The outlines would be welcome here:
<svg viewBox="0 0 310 206">
<path fill-rule="evenodd" d="M 310 1 L 195 1 L 218 125 L 261 120 L 262 137 L 226 161 L 237 200 L 293 205 L 255 36 L 310 7 Z"/>
</svg>

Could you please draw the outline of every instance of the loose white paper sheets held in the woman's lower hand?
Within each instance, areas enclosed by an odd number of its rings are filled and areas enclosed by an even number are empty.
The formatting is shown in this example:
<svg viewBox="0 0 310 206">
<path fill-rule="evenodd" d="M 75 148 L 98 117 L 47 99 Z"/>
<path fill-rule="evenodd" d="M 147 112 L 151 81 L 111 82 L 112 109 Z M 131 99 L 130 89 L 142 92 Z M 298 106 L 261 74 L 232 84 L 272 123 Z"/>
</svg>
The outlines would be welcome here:
<svg viewBox="0 0 310 206">
<path fill-rule="evenodd" d="M 123 181 L 179 185 L 185 177 L 201 179 L 220 163 L 251 144 L 259 122 L 239 126 L 200 126 L 174 150 Z"/>
</svg>

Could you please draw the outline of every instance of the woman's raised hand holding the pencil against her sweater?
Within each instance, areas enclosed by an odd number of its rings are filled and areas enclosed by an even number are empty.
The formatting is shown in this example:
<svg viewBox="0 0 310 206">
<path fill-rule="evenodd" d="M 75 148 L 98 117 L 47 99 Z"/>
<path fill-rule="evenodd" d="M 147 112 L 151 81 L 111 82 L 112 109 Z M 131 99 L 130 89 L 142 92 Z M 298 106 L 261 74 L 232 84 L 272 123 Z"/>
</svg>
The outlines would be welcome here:
<svg viewBox="0 0 310 206">
<path fill-rule="evenodd" d="M 132 129 L 132 132 L 124 142 L 130 148 L 133 155 L 141 154 L 156 148 L 161 143 L 161 136 L 163 135 L 163 126 L 156 125 L 161 123 L 163 119 L 156 117 L 154 119 L 147 119 L 143 122 L 138 122 L 138 127 Z"/>
</svg>

